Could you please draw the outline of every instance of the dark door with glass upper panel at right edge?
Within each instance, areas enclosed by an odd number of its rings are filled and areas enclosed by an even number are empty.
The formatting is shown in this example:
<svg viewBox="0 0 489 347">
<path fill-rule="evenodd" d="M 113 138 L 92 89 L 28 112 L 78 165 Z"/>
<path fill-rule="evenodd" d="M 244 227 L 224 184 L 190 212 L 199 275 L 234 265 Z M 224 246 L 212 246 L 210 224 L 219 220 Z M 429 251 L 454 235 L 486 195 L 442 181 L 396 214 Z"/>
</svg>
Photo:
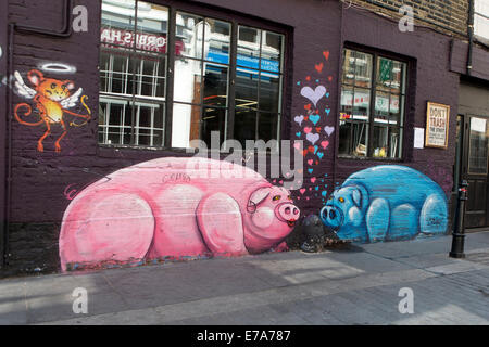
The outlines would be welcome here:
<svg viewBox="0 0 489 347">
<path fill-rule="evenodd" d="M 489 226 L 489 117 L 468 115 L 462 121 L 464 130 L 461 138 L 463 143 L 461 178 L 468 182 L 465 228 L 482 228 Z"/>
</svg>

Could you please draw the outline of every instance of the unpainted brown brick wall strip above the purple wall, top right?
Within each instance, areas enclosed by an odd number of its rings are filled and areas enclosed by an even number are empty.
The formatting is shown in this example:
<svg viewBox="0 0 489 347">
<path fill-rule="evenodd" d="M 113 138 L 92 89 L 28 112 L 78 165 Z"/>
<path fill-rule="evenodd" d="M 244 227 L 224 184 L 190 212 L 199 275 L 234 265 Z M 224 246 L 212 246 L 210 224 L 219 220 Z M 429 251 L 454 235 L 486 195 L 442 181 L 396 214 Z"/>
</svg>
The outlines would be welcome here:
<svg viewBox="0 0 489 347">
<path fill-rule="evenodd" d="M 436 28 L 456 37 L 466 36 L 468 0 L 344 0 L 400 18 L 399 9 L 410 5 L 414 10 L 415 25 Z"/>
</svg>

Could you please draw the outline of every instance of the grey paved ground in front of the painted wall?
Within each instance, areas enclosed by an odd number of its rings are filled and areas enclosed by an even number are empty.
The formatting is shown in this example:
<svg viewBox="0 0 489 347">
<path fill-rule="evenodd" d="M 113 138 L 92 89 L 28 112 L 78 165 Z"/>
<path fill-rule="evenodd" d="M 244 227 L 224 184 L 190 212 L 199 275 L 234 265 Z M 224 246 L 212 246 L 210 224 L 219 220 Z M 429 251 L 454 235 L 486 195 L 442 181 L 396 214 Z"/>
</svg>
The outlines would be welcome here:
<svg viewBox="0 0 489 347">
<path fill-rule="evenodd" d="M 489 231 L 467 234 L 465 259 L 448 256 L 451 241 L 5 279 L 0 324 L 487 325 Z M 79 287 L 87 313 L 73 310 Z M 406 287 L 413 313 L 399 310 Z"/>
</svg>

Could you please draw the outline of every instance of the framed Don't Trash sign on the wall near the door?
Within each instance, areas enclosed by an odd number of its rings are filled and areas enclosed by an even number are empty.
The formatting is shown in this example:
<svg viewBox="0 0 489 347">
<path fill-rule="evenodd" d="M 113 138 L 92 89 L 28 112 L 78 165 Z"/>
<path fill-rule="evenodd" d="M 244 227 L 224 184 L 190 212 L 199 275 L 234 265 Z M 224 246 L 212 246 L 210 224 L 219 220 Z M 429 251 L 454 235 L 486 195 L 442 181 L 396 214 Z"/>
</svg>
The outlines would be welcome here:
<svg viewBox="0 0 489 347">
<path fill-rule="evenodd" d="M 426 113 L 426 141 L 427 147 L 447 149 L 450 106 L 428 102 Z"/>
</svg>

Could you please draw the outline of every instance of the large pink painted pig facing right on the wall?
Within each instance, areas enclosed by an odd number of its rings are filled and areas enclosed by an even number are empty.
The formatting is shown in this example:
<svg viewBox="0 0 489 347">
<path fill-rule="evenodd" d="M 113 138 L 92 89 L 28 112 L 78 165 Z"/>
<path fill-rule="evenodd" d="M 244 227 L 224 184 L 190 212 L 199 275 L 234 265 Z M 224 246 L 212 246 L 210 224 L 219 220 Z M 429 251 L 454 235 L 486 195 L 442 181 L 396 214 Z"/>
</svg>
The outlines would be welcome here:
<svg viewBox="0 0 489 347">
<path fill-rule="evenodd" d="M 61 226 L 61 267 L 281 250 L 299 217 L 288 190 L 247 167 L 159 158 L 115 171 L 73 198 Z"/>
</svg>

